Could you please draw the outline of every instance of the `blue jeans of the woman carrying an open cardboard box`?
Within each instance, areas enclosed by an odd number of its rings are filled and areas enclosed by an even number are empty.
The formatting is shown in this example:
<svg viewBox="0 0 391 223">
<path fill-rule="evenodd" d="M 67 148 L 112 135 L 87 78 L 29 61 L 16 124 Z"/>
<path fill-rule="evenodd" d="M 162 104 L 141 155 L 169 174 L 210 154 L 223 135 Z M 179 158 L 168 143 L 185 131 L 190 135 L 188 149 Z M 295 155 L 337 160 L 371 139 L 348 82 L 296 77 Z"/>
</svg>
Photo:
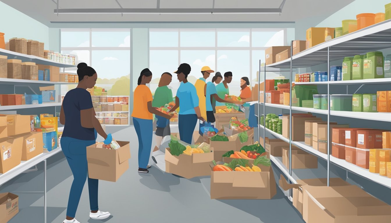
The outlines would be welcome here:
<svg viewBox="0 0 391 223">
<path fill-rule="evenodd" d="M 95 144 L 95 140 L 80 140 L 71 137 L 61 137 L 61 149 L 64 152 L 74 180 L 68 199 L 66 216 L 75 217 L 84 183 L 88 177 L 87 146 Z M 98 209 L 98 180 L 88 178 L 88 193 L 90 195 L 91 211 Z"/>
</svg>

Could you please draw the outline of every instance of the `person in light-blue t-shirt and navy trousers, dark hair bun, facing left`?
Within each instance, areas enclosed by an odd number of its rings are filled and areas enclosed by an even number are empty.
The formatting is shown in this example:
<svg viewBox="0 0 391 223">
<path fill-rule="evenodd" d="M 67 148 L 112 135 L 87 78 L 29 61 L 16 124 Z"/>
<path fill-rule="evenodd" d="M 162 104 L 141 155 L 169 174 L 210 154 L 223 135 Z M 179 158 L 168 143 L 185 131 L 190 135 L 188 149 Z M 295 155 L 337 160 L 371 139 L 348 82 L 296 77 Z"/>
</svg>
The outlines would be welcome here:
<svg viewBox="0 0 391 223">
<path fill-rule="evenodd" d="M 190 74 L 191 67 L 189 64 L 183 63 L 179 65 L 177 74 L 179 82 L 181 82 L 175 97 L 175 106 L 170 112 L 175 111 L 179 107 L 178 128 L 181 141 L 191 144 L 193 132 L 197 125 L 197 119 L 205 121 L 201 117 L 201 111 L 198 107 L 199 100 L 197 91 L 193 84 L 188 82 L 187 76 Z M 181 103 L 179 105 L 179 102 Z"/>
</svg>

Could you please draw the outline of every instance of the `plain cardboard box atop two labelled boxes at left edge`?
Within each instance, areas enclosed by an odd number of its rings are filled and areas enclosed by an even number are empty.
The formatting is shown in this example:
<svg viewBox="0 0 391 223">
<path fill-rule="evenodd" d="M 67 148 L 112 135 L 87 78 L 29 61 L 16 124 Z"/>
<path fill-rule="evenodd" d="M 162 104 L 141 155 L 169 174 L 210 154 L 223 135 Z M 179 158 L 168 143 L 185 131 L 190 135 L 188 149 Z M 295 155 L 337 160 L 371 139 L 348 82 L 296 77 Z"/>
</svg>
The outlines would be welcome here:
<svg viewBox="0 0 391 223">
<path fill-rule="evenodd" d="M 8 136 L 14 136 L 30 132 L 31 127 L 29 115 L 7 114 L 5 116 L 7 117 Z"/>
</svg>

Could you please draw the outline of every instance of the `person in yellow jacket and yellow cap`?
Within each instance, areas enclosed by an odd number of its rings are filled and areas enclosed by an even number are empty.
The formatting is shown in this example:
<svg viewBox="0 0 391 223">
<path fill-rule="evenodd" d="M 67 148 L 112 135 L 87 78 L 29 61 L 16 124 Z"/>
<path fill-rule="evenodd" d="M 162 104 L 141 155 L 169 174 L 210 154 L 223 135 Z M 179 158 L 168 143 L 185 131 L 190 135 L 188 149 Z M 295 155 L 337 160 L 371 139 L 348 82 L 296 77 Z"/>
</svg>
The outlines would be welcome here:
<svg viewBox="0 0 391 223">
<path fill-rule="evenodd" d="M 195 84 L 194 87 L 197 90 L 197 96 L 199 99 L 199 110 L 201 111 L 201 117 L 204 118 L 204 120 L 207 120 L 206 117 L 206 79 L 210 76 L 211 73 L 214 73 L 212 69 L 208 66 L 203 66 L 201 68 L 202 77 L 199 78 Z M 201 128 L 201 125 L 200 125 Z M 199 132 L 201 135 L 201 131 Z"/>
</svg>

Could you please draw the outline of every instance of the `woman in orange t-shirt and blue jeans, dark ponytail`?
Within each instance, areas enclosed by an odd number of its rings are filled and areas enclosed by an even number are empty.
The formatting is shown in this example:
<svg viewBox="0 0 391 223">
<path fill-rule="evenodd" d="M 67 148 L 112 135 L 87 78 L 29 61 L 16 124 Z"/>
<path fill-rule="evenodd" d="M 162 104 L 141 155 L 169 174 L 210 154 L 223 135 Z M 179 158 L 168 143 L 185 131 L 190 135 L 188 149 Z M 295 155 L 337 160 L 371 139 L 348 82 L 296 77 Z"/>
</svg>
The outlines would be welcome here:
<svg viewBox="0 0 391 223">
<path fill-rule="evenodd" d="M 138 77 L 138 86 L 133 94 L 133 124 L 138 137 L 138 172 L 148 173 L 151 166 L 148 161 L 152 148 L 152 114 L 170 119 L 172 115 L 165 114 L 152 107 L 152 93 L 146 84 L 152 80 L 152 72 L 145 68 Z"/>
</svg>

